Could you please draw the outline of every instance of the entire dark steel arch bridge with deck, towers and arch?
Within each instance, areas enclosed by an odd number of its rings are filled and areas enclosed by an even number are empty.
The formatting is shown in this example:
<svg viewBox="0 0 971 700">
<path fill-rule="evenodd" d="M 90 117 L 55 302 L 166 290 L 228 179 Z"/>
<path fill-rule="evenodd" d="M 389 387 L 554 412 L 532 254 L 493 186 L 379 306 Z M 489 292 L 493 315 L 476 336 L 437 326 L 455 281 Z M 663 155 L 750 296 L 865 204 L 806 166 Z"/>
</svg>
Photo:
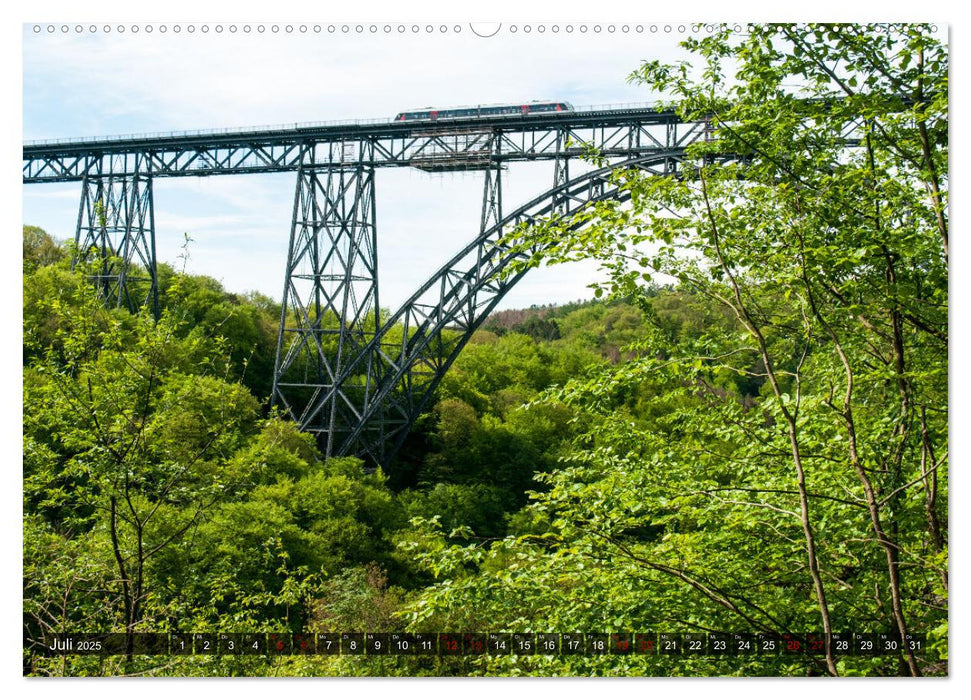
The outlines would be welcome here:
<svg viewBox="0 0 971 700">
<path fill-rule="evenodd" d="M 144 134 L 26 144 L 23 182 L 80 182 L 76 256 L 98 258 L 92 277 L 108 303 L 157 315 L 154 179 L 295 172 L 272 402 L 317 433 L 328 457 L 387 467 L 472 333 L 525 274 L 511 267 L 523 253 L 503 237 L 623 199 L 618 168 L 675 174 L 685 148 L 709 136 L 705 122 L 649 106 Z M 591 147 L 604 165 L 571 177 L 571 161 Z M 536 160 L 552 164 L 549 189 L 504 212 L 503 171 Z M 382 318 L 375 171 L 385 167 L 481 171 L 484 188 L 477 235 Z"/>
</svg>

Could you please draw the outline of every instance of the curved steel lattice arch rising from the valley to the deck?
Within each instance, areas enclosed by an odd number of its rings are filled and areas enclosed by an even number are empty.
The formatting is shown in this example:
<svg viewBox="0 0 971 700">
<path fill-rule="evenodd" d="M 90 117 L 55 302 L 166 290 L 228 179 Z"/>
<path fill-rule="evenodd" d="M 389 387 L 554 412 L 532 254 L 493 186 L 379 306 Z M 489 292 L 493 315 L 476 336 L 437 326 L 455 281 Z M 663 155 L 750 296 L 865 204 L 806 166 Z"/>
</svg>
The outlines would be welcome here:
<svg viewBox="0 0 971 700">
<path fill-rule="evenodd" d="M 680 172 L 684 149 L 618 161 L 552 187 L 482 231 L 422 284 L 360 349 L 319 400 L 343 398 L 347 427 L 335 455 L 357 454 L 387 466 L 474 331 L 528 272 L 505 276 L 523 258 L 499 241 L 523 224 L 605 200 L 627 201 L 612 175 L 637 169 Z M 578 222 L 571 228 L 584 225 Z M 357 379 L 357 391 L 348 391 Z M 363 379 L 363 381 L 361 381 Z"/>
</svg>

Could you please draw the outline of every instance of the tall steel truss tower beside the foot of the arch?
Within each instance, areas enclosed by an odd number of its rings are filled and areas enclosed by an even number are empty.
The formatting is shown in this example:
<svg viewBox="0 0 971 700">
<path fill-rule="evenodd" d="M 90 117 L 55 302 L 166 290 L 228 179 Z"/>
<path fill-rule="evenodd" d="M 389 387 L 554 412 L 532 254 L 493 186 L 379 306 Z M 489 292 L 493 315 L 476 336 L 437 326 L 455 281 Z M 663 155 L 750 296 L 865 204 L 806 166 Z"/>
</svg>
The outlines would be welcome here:
<svg viewBox="0 0 971 700">
<path fill-rule="evenodd" d="M 316 165 L 310 147 L 297 174 L 273 374 L 273 403 L 317 433 L 327 456 L 360 419 L 380 370 L 361 357 L 380 326 L 371 154 L 367 142 L 356 157 L 331 148 L 340 165 Z M 337 382 L 352 362 L 355 373 Z M 383 445 L 380 417 L 369 428 L 368 441 Z"/>
</svg>

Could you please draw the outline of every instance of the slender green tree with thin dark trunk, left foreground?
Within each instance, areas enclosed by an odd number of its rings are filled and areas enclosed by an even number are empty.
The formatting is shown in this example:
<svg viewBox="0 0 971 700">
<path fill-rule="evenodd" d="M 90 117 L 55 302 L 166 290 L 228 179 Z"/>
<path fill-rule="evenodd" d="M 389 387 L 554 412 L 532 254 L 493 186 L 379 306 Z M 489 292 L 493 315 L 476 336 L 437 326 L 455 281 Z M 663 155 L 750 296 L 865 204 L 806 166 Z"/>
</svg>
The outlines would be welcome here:
<svg viewBox="0 0 971 700">
<path fill-rule="evenodd" d="M 24 495 L 59 531 L 110 548 L 130 659 L 151 614 L 151 560 L 241 478 L 229 457 L 258 404 L 219 378 L 225 362 L 201 334 L 74 289 L 54 342 L 25 371 Z"/>
</svg>

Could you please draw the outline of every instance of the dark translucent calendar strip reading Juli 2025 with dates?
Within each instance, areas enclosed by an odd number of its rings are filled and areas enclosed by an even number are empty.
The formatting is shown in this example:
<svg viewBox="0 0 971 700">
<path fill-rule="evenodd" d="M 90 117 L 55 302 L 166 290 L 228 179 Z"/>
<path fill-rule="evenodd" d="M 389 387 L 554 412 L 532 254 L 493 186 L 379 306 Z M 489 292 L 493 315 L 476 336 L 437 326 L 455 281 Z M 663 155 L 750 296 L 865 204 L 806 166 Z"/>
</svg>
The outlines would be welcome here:
<svg viewBox="0 0 971 700">
<path fill-rule="evenodd" d="M 836 656 L 920 653 L 923 634 L 905 640 L 885 632 L 780 634 L 738 632 L 296 632 L 138 633 L 131 653 L 308 655 L 308 656 L 822 656 L 827 642 Z M 24 647 L 50 656 L 127 654 L 125 634 L 57 634 L 24 640 Z"/>
</svg>

